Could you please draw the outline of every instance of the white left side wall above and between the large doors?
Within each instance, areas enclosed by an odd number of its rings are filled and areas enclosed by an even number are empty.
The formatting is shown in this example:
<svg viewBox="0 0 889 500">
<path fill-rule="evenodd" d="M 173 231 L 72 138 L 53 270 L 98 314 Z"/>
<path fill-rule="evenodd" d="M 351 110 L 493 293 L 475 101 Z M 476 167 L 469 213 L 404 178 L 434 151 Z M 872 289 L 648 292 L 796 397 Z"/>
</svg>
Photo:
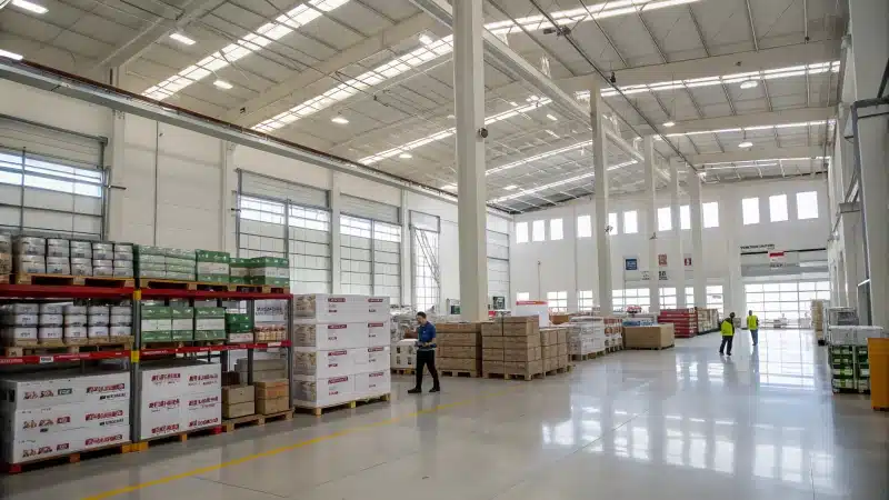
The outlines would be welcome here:
<svg viewBox="0 0 889 500">
<path fill-rule="evenodd" d="M 109 139 L 111 183 L 108 238 L 142 244 L 234 253 L 237 169 L 438 216 L 441 221 L 441 304 L 460 297 L 457 206 L 290 158 L 236 147 L 219 139 L 71 98 L 0 80 L 0 113 Z M 406 213 L 406 212 L 402 212 Z M 409 212 L 407 212 L 409 213 Z M 498 217 L 497 230 L 509 228 Z M 339 239 L 334 238 L 334 246 Z M 402 241 L 409 244 L 409 234 Z M 334 252 L 334 256 L 337 253 Z M 408 253 L 409 256 L 409 253 Z M 412 271 L 402 267 L 402 274 Z M 333 262 L 334 276 L 339 262 Z M 406 281 L 407 280 L 407 281 Z M 409 289 L 409 277 L 402 278 Z M 412 297 L 408 293 L 407 297 Z"/>
</svg>

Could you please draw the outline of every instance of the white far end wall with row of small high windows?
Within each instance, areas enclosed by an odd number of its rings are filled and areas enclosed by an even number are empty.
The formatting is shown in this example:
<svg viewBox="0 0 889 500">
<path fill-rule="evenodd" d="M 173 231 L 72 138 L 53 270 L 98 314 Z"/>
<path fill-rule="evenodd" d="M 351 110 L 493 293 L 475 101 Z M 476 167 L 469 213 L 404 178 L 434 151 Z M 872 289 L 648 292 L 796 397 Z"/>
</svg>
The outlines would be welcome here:
<svg viewBox="0 0 889 500">
<path fill-rule="evenodd" d="M 796 220 L 796 193 L 816 191 L 819 202 L 819 218 Z M 769 222 L 768 198 L 786 193 L 790 220 Z M 829 236 L 827 189 L 823 178 L 772 180 L 745 182 L 740 184 L 705 186 L 702 202 L 719 202 L 719 227 L 703 230 L 705 259 L 702 262 L 708 283 L 728 287 L 729 267 L 739 266 L 741 246 L 775 244 L 779 250 L 802 250 L 826 248 Z M 759 224 L 743 226 L 741 221 L 741 199 L 760 199 Z M 688 203 L 683 199 L 682 203 Z M 669 206 L 669 192 L 659 191 L 657 207 Z M 623 258 L 639 259 L 639 269 L 650 269 L 648 262 L 648 240 L 651 231 L 646 228 L 645 203 L 641 196 L 623 196 L 611 199 L 611 212 L 618 213 L 619 233 L 611 237 L 611 273 L 615 289 L 642 288 L 646 284 L 625 282 Z M 623 212 L 638 211 L 639 232 L 623 233 Z M 596 238 L 576 238 L 577 217 L 595 211 L 592 200 L 577 200 L 567 206 L 525 213 L 516 217 L 516 223 L 528 222 L 529 233 L 532 221 L 547 221 L 547 240 L 543 242 L 516 243 L 515 231 L 510 243 L 511 287 L 513 299 L 517 292 L 530 292 L 531 298 L 545 299 L 548 291 L 568 291 L 569 309 L 577 308 L 577 290 L 597 291 Z M 565 239 L 551 241 L 549 220 L 562 218 Z M 658 252 L 670 253 L 669 239 L 676 231 L 656 231 Z M 683 253 L 691 253 L 691 231 L 681 231 Z M 733 260 L 732 260 L 733 256 Z M 697 266 L 697 263 L 695 263 Z M 668 268 L 669 269 L 669 268 Z M 673 281 L 662 282 L 673 287 Z M 691 272 L 686 272 L 686 287 L 691 287 Z M 736 283 L 735 298 L 742 297 L 741 283 Z M 732 290 L 723 289 L 728 296 Z M 597 297 L 598 299 L 598 297 Z M 729 302 L 727 302 L 728 304 Z M 736 300 L 737 303 L 737 300 Z M 736 306 L 737 307 L 737 306 Z M 740 303 L 742 307 L 742 302 Z"/>
</svg>

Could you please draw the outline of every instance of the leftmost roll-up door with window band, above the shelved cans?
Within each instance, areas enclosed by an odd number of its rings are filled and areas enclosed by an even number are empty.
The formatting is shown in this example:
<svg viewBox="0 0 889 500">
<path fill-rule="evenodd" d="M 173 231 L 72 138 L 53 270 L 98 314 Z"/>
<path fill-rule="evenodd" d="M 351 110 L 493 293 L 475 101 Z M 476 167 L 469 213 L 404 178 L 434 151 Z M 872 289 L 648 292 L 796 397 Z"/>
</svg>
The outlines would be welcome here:
<svg viewBox="0 0 889 500">
<path fill-rule="evenodd" d="M 100 239 L 104 139 L 0 117 L 0 227 Z"/>
</svg>

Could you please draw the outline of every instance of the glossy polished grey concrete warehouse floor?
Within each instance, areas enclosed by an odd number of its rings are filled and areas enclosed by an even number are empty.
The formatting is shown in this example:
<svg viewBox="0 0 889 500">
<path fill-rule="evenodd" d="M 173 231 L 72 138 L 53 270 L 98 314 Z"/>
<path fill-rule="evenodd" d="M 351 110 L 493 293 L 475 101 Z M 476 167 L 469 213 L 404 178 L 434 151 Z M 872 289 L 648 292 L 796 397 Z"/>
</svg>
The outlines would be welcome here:
<svg viewBox="0 0 889 500">
<path fill-rule="evenodd" d="M 47 499 L 889 499 L 889 416 L 833 396 L 810 332 L 623 351 L 532 382 L 443 379 L 390 404 L 0 479 Z M 427 380 L 427 386 L 429 386 Z"/>
</svg>

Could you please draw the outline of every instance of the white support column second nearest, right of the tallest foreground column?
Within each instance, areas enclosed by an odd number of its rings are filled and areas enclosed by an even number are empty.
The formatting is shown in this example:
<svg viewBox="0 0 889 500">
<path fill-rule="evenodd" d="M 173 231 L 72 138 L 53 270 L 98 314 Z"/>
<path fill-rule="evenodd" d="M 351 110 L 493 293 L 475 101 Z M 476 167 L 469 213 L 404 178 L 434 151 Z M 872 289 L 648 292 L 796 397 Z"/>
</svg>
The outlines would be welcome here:
<svg viewBox="0 0 889 500">
<path fill-rule="evenodd" d="M 595 97 L 595 98 L 593 98 Z M 608 121 L 605 118 L 606 104 L 599 90 L 599 81 L 593 80 L 590 86 L 590 121 L 592 124 L 592 166 L 596 176 L 595 199 L 596 221 L 592 224 L 596 232 L 597 260 L 599 268 L 599 308 L 602 314 L 613 311 L 611 290 L 611 236 L 606 230 L 608 227 L 608 139 L 606 129 Z"/>
</svg>

